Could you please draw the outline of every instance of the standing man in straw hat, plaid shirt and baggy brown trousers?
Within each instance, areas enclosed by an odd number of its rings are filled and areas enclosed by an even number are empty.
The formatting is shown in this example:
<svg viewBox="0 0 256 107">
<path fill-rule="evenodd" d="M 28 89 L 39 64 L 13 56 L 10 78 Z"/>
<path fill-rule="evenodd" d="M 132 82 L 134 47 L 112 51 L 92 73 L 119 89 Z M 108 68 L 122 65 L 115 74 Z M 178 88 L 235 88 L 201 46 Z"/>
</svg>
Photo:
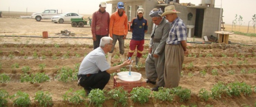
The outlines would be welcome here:
<svg viewBox="0 0 256 107">
<path fill-rule="evenodd" d="M 179 86 L 182 63 L 184 56 L 188 54 L 186 26 L 177 13 L 180 12 L 171 5 L 165 7 L 161 15 L 172 24 L 165 45 L 164 82 L 167 88 Z"/>
</svg>

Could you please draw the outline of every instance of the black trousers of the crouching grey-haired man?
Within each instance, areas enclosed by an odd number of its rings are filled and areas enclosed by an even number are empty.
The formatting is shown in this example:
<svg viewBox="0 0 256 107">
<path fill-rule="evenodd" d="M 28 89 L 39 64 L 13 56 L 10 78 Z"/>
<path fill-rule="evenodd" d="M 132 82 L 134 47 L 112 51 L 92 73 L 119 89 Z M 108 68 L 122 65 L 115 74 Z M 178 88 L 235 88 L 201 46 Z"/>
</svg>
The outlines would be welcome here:
<svg viewBox="0 0 256 107">
<path fill-rule="evenodd" d="M 78 75 L 78 79 L 79 79 Z M 91 76 L 81 76 L 80 86 L 84 87 L 84 89 L 91 91 L 92 89 L 103 89 L 106 84 L 109 82 L 110 74 L 106 71 L 99 72 L 96 74 L 92 74 Z"/>
</svg>

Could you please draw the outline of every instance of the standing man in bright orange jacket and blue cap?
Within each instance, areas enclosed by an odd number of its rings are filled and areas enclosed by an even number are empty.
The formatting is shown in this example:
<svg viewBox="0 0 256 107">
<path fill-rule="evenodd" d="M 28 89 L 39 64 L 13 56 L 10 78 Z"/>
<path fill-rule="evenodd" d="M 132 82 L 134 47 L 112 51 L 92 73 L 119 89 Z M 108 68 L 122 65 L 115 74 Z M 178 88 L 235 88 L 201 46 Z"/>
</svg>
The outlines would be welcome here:
<svg viewBox="0 0 256 107">
<path fill-rule="evenodd" d="M 109 22 L 109 35 L 113 39 L 114 46 L 118 40 L 119 42 L 119 53 L 120 61 L 125 61 L 125 39 L 128 33 L 128 18 L 125 14 L 125 7 L 123 2 L 117 3 L 117 11 L 112 13 L 110 16 Z M 111 56 L 115 47 L 112 47 L 112 50 L 108 53 L 108 63 L 111 65 Z"/>
</svg>

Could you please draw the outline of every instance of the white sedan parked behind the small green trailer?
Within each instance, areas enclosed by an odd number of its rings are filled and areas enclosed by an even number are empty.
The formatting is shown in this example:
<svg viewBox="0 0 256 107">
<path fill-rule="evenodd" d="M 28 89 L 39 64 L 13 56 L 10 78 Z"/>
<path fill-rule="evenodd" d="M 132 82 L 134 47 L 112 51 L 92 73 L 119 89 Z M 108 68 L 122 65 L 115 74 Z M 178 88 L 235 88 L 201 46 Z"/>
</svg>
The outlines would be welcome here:
<svg viewBox="0 0 256 107">
<path fill-rule="evenodd" d="M 63 23 L 63 22 L 71 22 L 71 18 L 83 18 L 83 15 L 77 13 L 63 13 L 51 18 L 52 22 L 54 23 Z"/>
</svg>

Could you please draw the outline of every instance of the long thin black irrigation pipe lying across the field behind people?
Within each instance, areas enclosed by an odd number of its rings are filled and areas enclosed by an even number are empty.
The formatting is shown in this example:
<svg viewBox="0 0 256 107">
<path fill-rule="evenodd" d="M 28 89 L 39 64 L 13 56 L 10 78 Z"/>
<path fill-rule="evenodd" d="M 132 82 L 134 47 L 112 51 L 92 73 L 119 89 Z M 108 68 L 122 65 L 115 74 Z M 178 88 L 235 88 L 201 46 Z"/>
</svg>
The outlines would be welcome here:
<svg viewBox="0 0 256 107">
<path fill-rule="evenodd" d="M 5 37 L 31 37 L 31 38 L 43 38 L 42 36 L 15 36 L 15 35 L 2 35 L 2 36 L 5 36 Z M 92 37 L 71 37 L 71 36 L 67 36 L 67 37 L 56 37 L 56 36 L 51 36 L 51 37 L 48 37 L 48 38 L 70 38 L 70 39 L 83 39 L 83 38 L 86 38 L 86 39 L 92 39 Z M 130 39 L 130 38 L 127 38 L 127 39 Z M 150 40 L 150 39 L 145 39 L 145 40 Z M 198 43 L 198 44 L 207 44 L 207 43 L 217 43 L 217 42 L 187 42 L 187 43 Z M 247 45 L 247 46 L 256 46 L 256 45 L 248 45 L 248 44 L 241 44 L 241 43 L 233 43 L 233 42 L 230 42 L 230 44 L 239 44 L 239 45 Z"/>
</svg>

